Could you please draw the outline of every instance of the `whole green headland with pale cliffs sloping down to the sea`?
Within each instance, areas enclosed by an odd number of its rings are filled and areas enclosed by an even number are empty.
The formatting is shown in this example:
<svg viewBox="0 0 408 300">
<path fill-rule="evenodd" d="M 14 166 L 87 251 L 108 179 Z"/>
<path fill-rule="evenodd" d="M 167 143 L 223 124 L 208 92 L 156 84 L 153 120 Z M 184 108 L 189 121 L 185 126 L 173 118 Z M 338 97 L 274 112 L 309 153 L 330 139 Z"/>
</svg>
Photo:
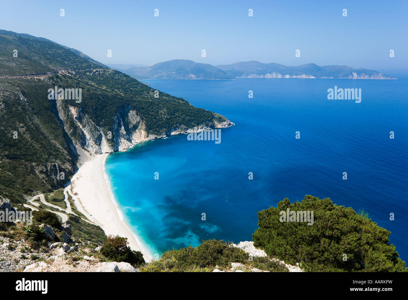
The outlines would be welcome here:
<svg viewBox="0 0 408 300">
<path fill-rule="evenodd" d="M 48 72 L 57 74 L 11 77 Z M 60 91 L 54 99 L 55 87 L 80 89 L 81 99 Z M 232 124 L 58 44 L 0 35 L 0 196 L 12 202 L 62 187 L 93 154 Z"/>
</svg>

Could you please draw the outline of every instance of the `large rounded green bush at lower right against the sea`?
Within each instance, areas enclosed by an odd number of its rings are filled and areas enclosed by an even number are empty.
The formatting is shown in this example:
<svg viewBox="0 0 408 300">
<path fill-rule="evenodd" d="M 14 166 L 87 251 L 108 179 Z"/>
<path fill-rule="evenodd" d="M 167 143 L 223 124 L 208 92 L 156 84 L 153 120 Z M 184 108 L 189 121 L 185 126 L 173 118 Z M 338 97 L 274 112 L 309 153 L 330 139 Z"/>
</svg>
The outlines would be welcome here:
<svg viewBox="0 0 408 300">
<path fill-rule="evenodd" d="M 313 211 L 308 222 L 281 222 L 280 212 Z M 302 202 L 288 198 L 258 212 L 259 229 L 253 234 L 255 247 L 286 263 L 302 263 L 307 271 L 406 271 L 392 244 L 390 231 L 379 227 L 364 213 L 337 206 L 329 198 L 310 195 Z M 347 260 L 344 260 L 347 256 Z"/>
</svg>

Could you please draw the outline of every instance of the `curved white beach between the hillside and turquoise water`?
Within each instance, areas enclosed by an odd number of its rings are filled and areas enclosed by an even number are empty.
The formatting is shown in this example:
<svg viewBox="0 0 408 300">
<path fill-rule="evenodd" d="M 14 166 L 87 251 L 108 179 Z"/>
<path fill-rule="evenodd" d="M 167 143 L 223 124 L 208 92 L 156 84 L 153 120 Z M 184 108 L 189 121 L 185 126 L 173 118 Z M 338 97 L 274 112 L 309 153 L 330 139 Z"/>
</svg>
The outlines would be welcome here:
<svg viewBox="0 0 408 300">
<path fill-rule="evenodd" d="M 112 234 L 127 238 L 129 247 L 142 252 L 144 260 L 150 262 L 153 256 L 142 239 L 130 229 L 113 196 L 104 167 L 108 155 L 109 153 L 104 153 L 94 156 L 75 173 L 71 180 L 75 204 L 89 220 L 102 227 L 106 235 Z M 78 195 L 74 195 L 75 193 Z"/>
</svg>

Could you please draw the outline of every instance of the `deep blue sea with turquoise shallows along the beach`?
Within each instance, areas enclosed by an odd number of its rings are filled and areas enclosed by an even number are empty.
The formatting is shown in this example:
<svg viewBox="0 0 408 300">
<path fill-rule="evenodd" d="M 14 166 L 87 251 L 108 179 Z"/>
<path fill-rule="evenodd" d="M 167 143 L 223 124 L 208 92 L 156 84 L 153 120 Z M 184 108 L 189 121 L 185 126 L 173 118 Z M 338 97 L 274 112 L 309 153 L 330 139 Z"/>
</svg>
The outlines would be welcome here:
<svg viewBox="0 0 408 300">
<path fill-rule="evenodd" d="M 115 198 L 152 254 L 252 240 L 257 211 L 313 195 L 367 211 L 408 262 L 407 79 L 146 82 L 236 124 L 222 129 L 220 144 L 180 135 L 106 160 Z M 334 86 L 360 88 L 361 103 L 328 100 Z"/>
</svg>

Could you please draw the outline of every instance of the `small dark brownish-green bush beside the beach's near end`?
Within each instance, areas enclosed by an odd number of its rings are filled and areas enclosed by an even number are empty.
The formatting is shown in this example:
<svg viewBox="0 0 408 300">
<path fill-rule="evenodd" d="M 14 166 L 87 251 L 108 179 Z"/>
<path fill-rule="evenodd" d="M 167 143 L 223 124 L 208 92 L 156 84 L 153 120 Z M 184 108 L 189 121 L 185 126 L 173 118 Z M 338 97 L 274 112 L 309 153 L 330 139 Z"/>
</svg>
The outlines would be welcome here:
<svg viewBox="0 0 408 300">
<path fill-rule="evenodd" d="M 128 246 L 127 238 L 120 236 L 108 236 L 102 246 L 101 253 L 115 262 L 129 262 L 133 266 L 144 264 L 143 255 L 140 251 L 132 251 Z"/>
</svg>

